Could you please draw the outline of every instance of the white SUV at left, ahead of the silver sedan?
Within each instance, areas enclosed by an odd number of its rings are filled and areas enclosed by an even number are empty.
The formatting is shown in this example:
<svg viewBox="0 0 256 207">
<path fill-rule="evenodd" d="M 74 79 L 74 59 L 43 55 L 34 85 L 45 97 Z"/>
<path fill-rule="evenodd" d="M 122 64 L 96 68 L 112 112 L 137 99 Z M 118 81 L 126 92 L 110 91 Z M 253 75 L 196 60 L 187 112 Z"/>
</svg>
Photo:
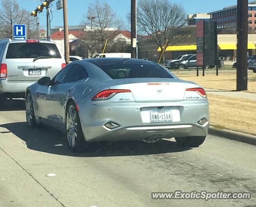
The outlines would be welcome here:
<svg viewBox="0 0 256 207">
<path fill-rule="evenodd" d="M 43 76 L 53 78 L 66 66 L 52 41 L 0 41 L 0 98 L 25 97 L 26 88 Z"/>
</svg>

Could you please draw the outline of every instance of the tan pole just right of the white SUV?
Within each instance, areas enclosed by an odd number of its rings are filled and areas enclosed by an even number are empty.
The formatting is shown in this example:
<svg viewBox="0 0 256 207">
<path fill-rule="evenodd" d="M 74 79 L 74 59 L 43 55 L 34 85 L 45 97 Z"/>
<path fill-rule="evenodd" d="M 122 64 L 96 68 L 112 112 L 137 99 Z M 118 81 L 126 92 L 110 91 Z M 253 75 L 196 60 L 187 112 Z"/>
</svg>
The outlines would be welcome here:
<svg viewBox="0 0 256 207">
<path fill-rule="evenodd" d="M 63 0 L 63 22 L 64 22 L 64 47 L 66 63 L 70 62 L 70 42 L 69 42 L 69 27 L 67 19 L 67 3 Z"/>
</svg>

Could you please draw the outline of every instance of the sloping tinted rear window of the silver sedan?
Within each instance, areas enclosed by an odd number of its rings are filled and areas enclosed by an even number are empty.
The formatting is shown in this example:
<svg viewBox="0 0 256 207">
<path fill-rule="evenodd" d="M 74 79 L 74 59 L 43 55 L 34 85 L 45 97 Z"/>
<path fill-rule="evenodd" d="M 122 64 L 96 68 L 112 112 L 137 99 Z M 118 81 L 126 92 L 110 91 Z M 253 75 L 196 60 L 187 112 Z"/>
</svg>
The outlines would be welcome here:
<svg viewBox="0 0 256 207">
<path fill-rule="evenodd" d="M 100 67 L 112 79 L 122 78 L 173 78 L 157 64 L 119 63 Z"/>
</svg>

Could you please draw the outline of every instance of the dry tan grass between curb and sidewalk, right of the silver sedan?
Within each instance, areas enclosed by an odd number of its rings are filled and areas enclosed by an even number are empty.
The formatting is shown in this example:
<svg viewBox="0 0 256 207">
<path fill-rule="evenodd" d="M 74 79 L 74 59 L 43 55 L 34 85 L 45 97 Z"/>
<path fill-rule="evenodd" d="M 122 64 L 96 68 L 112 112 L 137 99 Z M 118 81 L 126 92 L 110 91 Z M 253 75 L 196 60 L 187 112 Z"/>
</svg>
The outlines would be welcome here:
<svg viewBox="0 0 256 207">
<path fill-rule="evenodd" d="M 256 135 L 256 102 L 208 95 L 210 125 Z"/>
</svg>

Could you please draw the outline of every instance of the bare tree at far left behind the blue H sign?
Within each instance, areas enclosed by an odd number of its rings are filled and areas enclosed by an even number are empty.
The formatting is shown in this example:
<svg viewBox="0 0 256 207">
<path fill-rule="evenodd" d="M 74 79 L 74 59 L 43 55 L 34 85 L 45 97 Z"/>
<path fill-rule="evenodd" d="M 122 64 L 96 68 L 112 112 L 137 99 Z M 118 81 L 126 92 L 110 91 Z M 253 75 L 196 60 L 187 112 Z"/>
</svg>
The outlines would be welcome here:
<svg viewBox="0 0 256 207">
<path fill-rule="evenodd" d="M 19 9 L 16 0 L 2 0 L 0 9 L 0 36 L 13 38 L 13 25 L 24 21 L 25 10 Z"/>
</svg>

